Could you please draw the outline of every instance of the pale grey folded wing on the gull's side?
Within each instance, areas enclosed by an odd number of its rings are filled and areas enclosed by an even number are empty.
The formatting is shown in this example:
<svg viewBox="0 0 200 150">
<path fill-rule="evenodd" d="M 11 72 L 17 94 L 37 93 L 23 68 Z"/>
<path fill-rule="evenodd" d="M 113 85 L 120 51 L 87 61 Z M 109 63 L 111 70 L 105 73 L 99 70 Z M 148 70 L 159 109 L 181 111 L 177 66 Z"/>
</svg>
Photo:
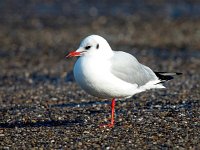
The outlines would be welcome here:
<svg viewBox="0 0 200 150">
<path fill-rule="evenodd" d="M 140 64 L 134 56 L 122 51 L 114 51 L 111 58 L 111 72 L 116 77 L 138 86 L 158 79 L 149 67 Z"/>
</svg>

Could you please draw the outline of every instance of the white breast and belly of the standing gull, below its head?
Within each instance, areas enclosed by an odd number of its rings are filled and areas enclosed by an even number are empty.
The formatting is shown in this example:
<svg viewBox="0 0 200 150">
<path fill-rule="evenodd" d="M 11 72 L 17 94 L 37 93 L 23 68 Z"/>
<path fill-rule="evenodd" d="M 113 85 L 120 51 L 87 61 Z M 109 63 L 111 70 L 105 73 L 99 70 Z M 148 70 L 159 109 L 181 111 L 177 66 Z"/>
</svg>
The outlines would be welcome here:
<svg viewBox="0 0 200 150">
<path fill-rule="evenodd" d="M 137 92 L 137 85 L 127 83 L 110 72 L 109 61 L 98 58 L 77 60 L 74 66 L 76 82 L 89 94 L 101 98 L 130 97 Z"/>
</svg>

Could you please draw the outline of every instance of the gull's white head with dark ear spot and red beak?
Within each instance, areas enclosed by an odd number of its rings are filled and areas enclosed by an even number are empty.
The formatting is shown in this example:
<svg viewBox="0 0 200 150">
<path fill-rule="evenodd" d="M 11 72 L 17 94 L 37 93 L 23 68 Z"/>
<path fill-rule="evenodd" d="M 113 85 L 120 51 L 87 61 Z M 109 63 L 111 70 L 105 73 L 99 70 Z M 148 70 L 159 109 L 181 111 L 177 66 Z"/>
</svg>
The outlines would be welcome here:
<svg viewBox="0 0 200 150">
<path fill-rule="evenodd" d="M 108 42 L 99 35 L 90 35 L 81 41 L 76 51 L 70 52 L 66 57 L 76 56 L 108 56 L 112 53 L 112 49 Z"/>
</svg>

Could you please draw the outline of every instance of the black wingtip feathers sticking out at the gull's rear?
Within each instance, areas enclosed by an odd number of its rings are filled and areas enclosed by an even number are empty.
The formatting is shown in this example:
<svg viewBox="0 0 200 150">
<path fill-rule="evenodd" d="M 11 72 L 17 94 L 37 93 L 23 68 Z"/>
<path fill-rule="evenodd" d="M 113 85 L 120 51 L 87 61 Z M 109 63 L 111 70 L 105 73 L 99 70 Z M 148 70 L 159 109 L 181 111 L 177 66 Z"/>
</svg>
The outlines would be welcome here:
<svg viewBox="0 0 200 150">
<path fill-rule="evenodd" d="M 160 83 L 171 80 L 174 78 L 174 76 L 182 74 L 179 72 L 154 72 L 154 73 L 160 79 L 160 81 L 161 81 Z"/>
</svg>

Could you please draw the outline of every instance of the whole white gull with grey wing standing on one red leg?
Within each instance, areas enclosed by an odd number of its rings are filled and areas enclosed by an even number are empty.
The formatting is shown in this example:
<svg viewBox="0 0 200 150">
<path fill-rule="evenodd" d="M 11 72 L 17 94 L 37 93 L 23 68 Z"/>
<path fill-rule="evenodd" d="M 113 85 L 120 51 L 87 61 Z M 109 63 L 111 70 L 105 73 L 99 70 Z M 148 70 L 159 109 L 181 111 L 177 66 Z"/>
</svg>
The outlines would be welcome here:
<svg viewBox="0 0 200 150">
<path fill-rule="evenodd" d="M 114 126 L 115 99 L 130 98 L 150 89 L 162 89 L 165 81 L 181 73 L 154 72 L 141 64 L 131 54 L 113 51 L 99 35 L 82 40 L 76 51 L 67 56 L 79 57 L 74 65 L 76 82 L 90 95 L 112 99 L 111 122 L 103 127 Z"/>
</svg>

